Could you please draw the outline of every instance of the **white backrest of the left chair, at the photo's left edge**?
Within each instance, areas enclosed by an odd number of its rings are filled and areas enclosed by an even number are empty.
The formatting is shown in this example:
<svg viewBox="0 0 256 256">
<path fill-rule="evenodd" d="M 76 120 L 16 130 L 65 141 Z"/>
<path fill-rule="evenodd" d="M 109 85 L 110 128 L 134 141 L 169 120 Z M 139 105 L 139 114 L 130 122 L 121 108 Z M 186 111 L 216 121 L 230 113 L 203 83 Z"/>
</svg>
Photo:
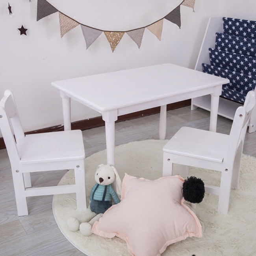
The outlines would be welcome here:
<svg viewBox="0 0 256 256">
<path fill-rule="evenodd" d="M 20 161 L 20 156 L 15 138 L 18 139 L 25 135 L 13 94 L 9 90 L 4 92 L 4 97 L 0 101 L 0 130 L 6 144 L 11 165 L 17 163 L 17 161 Z"/>
</svg>

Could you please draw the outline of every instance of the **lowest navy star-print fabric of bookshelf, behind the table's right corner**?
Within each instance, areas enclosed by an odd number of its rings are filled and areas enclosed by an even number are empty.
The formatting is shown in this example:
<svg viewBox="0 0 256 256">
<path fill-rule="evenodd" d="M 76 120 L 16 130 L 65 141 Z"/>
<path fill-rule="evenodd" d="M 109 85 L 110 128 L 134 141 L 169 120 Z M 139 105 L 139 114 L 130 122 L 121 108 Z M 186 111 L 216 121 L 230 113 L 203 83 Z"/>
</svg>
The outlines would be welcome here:
<svg viewBox="0 0 256 256">
<path fill-rule="evenodd" d="M 244 103 L 247 93 L 254 90 L 256 86 L 256 77 L 247 74 L 235 72 L 221 67 L 215 67 L 202 63 L 203 72 L 228 78 L 230 83 L 226 83 L 222 87 L 223 98 L 227 98 L 239 103 Z"/>
</svg>

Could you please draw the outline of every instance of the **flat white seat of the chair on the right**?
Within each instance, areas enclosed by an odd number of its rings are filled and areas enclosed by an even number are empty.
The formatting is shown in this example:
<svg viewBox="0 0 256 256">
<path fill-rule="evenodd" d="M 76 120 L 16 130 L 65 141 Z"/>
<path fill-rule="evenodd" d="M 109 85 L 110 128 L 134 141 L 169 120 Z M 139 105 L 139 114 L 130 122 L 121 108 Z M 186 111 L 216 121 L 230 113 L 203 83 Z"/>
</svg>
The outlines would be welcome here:
<svg viewBox="0 0 256 256">
<path fill-rule="evenodd" d="M 222 163 L 229 135 L 182 127 L 163 147 L 163 152 Z"/>
</svg>

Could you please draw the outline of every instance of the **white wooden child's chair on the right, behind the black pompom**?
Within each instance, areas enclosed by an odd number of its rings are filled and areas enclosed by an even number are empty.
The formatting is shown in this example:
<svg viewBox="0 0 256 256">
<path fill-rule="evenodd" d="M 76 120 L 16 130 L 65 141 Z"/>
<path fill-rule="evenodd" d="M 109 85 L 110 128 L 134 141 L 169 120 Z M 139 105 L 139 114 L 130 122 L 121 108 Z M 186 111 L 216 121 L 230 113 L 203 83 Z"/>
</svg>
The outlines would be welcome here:
<svg viewBox="0 0 256 256">
<path fill-rule="evenodd" d="M 173 163 L 221 171 L 220 187 L 205 185 L 205 191 L 219 195 L 218 212 L 228 213 L 230 189 L 238 185 L 245 133 L 255 101 L 255 93 L 250 91 L 245 104 L 236 110 L 230 135 L 180 128 L 163 147 L 163 176 L 172 175 Z"/>
</svg>

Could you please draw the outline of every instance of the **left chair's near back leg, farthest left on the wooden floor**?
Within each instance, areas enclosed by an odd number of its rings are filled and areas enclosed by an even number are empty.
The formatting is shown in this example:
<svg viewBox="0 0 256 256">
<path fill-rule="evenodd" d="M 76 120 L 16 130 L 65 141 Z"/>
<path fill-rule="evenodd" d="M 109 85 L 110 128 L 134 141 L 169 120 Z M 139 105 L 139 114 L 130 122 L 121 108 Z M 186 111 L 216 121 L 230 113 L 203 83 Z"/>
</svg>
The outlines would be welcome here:
<svg viewBox="0 0 256 256">
<path fill-rule="evenodd" d="M 26 216 L 28 215 L 28 205 L 25 195 L 23 174 L 21 172 L 13 172 L 13 185 L 15 191 L 18 216 Z"/>
</svg>

